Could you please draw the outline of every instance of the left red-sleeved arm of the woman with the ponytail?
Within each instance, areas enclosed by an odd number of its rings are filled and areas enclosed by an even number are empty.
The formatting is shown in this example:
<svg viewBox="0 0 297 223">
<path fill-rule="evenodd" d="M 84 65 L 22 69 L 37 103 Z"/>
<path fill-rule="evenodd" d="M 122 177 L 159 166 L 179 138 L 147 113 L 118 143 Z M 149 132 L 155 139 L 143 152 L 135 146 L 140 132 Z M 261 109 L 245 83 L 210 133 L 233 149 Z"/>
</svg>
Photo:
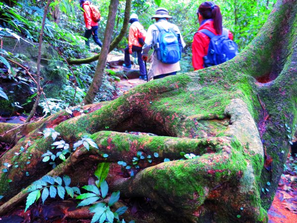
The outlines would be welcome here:
<svg viewBox="0 0 297 223">
<path fill-rule="evenodd" d="M 204 48 L 206 46 L 205 46 L 205 41 L 203 41 L 203 39 L 205 38 L 207 38 L 207 36 L 204 35 L 203 33 L 196 33 L 194 35 L 194 40 L 192 44 L 192 64 L 193 64 L 194 70 L 199 70 L 204 68 L 203 56 L 205 56 Z"/>
</svg>

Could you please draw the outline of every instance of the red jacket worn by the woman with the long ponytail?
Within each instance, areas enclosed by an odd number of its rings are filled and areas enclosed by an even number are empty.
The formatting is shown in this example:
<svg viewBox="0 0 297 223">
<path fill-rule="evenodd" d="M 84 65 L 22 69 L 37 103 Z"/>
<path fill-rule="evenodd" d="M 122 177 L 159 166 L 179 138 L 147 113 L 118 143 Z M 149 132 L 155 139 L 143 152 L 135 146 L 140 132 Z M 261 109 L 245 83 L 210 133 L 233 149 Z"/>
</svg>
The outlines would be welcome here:
<svg viewBox="0 0 297 223">
<path fill-rule="evenodd" d="M 211 31 L 212 33 L 217 35 L 217 32 L 215 31 L 213 27 L 213 21 L 207 20 L 203 25 L 201 25 L 198 29 L 207 29 Z M 228 30 L 229 33 L 229 39 L 233 40 L 233 34 Z M 207 55 L 208 46 L 209 46 L 210 38 L 206 36 L 204 33 L 197 32 L 194 35 L 193 44 L 192 44 L 192 64 L 194 67 L 194 70 L 203 69 L 203 56 Z"/>
</svg>

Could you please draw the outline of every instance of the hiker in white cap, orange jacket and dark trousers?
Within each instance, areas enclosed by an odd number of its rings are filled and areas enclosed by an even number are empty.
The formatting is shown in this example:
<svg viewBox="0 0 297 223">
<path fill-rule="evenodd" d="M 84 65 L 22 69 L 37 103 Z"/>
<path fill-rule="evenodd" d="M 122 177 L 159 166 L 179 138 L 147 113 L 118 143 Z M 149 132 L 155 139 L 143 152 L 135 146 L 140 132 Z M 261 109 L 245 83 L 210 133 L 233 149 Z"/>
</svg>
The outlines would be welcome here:
<svg viewBox="0 0 297 223">
<path fill-rule="evenodd" d="M 129 29 L 129 42 L 128 46 L 125 48 L 125 61 L 123 66 L 129 69 L 131 68 L 130 54 L 136 52 L 139 64 L 139 79 L 147 80 L 145 62 L 143 61 L 141 54 L 144 43 L 142 40 L 139 40 L 139 33 L 141 31 L 144 32 L 144 27 L 140 24 L 138 16 L 135 13 L 130 16 L 129 23 L 131 23 Z"/>
</svg>

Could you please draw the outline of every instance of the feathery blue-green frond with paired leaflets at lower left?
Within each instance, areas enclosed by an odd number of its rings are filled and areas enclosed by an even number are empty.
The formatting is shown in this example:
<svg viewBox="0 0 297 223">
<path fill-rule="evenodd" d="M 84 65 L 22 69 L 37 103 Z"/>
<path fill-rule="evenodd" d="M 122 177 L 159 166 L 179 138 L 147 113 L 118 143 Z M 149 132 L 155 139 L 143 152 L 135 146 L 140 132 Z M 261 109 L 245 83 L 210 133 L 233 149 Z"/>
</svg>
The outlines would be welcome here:
<svg viewBox="0 0 297 223">
<path fill-rule="evenodd" d="M 59 176 L 52 177 L 46 175 L 40 180 L 33 182 L 27 190 L 27 192 L 30 193 L 28 194 L 26 200 L 25 212 L 40 197 L 42 199 L 42 203 L 44 204 L 48 197 L 55 198 L 56 194 L 58 194 L 62 200 L 64 200 L 65 193 L 67 193 L 72 198 L 74 197 L 74 193 L 80 194 L 78 187 L 69 187 L 70 182 L 70 177 L 66 175 L 63 176 L 63 179 Z M 63 183 L 64 186 L 62 186 Z"/>
</svg>

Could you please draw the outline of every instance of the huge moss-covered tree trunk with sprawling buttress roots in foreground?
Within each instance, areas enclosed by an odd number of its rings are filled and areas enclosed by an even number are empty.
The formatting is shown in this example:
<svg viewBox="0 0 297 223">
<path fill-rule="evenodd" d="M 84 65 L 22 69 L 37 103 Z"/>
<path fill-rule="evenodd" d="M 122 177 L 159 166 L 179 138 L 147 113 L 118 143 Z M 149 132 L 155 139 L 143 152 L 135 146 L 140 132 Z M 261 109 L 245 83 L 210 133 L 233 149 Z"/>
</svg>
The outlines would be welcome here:
<svg viewBox="0 0 297 223">
<path fill-rule="evenodd" d="M 96 164 L 115 163 L 115 169 L 118 161 L 131 164 L 141 151 L 145 157 L 158 153 L 158 158 L 151 164 L 140 161 L 134 177 L 111 169 L 107 181 L 122 198 L 149 201 L 147 212 L 161 217 L 146 222 L 267 222 L 289 151 L 287 130 L 297 122 L 296 11 L 296 0 L 278 0 L 257 37 L 226 63 L 148 82 L 112 102 L 90 105 L 88 114 L 67 120 L 66 112 L 54 114 L 31 132 L 34 126 L 28 124 L 29 133 L 0 158 L 2 164 L 19 165 L 0 175 L 0 194 L 7 201 L 0 215 L 26 197 L 22 188 L 45 174 L 68 174 L 73 185 L 83 185 Z M 99 150 L 80 147 L 51 170 L 41 157 L 53 143 L 39 133 L 45 127 L 54 127 L 58 140 L 70 147 L 88 135 Z M 32 159 L 26 165 L 28 153 L 15 153 L 28 140 Z M 180 160 L 180 152 L 198 157 Z M 108 158 L 102 157 L 105 153 Z M 163 162 L 166 158 L 170 162 Z"/>
</svg>

